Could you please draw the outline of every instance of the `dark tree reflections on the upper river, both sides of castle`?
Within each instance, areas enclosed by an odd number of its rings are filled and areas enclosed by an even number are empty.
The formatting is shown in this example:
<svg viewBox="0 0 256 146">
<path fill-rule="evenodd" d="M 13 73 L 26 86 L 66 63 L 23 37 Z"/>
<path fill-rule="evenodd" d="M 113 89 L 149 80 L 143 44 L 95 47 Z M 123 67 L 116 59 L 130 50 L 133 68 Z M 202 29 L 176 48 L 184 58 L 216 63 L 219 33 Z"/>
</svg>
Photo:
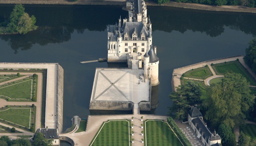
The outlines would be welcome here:
<svg viewBox="0 0 256 146">
<path fill-rule="evenodd" d="M 9 17 L 12 8 L 13 5 L 0 5 L 0 22 Z M 121 6 L 110 5 L 25 5 L 25 8 L 26 12 L 37 18 L 38 30 L 26 35 L 0 35 L 0 39 L 7 41 L 15 54 L 19 49 L 28 50 L 35 44 L 44 46 L 49 43 L 67 42 L 74 31 L 79 34 L 83 34 L 86 29 L 104 31 L 106 25 L 117 22 L 120 15 L 122 18 L 127 18 L 128 15 L 126 11 L 122 11 Z M 225 26 L 228 26 L 230 29 L 256 36 L 255 14 L 151 6 L 148 7 L 148 15 L 153 22 L 153 31 L 184 33 L 192 30 L 217 37 L 225 31 Z"/>
</svg>

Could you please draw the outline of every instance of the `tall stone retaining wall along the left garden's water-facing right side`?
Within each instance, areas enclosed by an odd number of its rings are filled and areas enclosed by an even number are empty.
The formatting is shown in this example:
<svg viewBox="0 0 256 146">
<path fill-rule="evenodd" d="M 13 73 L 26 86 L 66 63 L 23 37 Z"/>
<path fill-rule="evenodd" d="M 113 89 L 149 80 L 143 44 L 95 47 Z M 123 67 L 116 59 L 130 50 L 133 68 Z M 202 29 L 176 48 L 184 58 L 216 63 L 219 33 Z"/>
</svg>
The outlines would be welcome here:
<svg viewBox="0 0 256 146">
<path fill-rule="evenodd" d="M 57 133 L 62 132 L 63 127 L 63 68 L 58 65 L 57 73 Z"/>
</svg>

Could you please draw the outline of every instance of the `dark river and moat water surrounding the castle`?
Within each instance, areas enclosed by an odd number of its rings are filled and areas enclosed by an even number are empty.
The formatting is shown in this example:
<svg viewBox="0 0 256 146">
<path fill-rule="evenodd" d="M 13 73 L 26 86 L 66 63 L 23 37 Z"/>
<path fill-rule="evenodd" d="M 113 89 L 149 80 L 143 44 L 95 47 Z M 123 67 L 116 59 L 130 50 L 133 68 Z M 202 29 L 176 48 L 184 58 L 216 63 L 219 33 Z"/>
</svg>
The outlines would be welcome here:
<svg viewBox="0 0 256 146">
<path fill-rule="evenodd" d="M 0 22 L 13 5 L 0 5 Z M 0 35 L 0 62 L 59 62 L 64 69 L 63 130 L 71 118 L 87 118 L 96 67 L 106 62 L 80 61 L 106 57 L 106 25 L 128 18 L 121 6 L 25 5 L 38 30 L 26 35 Z M 174 68 L 209 59 L 245 55 L 256 36 L 256 15 L 147 7 L 153 23 L 153 45 L 160 58 L 156 114 L 166 114 Z M 123 66 L 123 65 L 120 65 Z M 61 144 L 64 146 L 65 144 Z"/>
</svg>

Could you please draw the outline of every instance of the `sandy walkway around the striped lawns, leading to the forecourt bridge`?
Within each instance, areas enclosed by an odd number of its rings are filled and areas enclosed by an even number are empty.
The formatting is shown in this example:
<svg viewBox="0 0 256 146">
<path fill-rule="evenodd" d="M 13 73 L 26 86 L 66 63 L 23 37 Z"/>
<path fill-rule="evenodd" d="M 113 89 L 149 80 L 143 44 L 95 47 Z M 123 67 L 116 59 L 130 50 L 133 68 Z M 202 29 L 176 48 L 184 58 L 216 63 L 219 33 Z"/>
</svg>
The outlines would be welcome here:
<svg viewBox="0 0 256 146">
<path fill-rule="evenodd" d="M 133 121 L 131 121 L 132 124 L 134 124 L 132 131 L 134 131 L 134 135 L 132 138 L 134 138 L 134 143 L 132 145 L 138 146 L 143 145 L 142 144 L 142 138 L 144 139 L 144 136 L 141 135 L 141 131 L 143 130 L 140 126 L 140 124 L 143 124 L 143 121 L 141 121 L 140 117 L 143 116 L 143 120 L 146 119 L 159 119 L 159 120 L 165 120 L 167 121 L 168 116 L 161 116 L 161 115 L 140 115 L 138 113 L 138 108 L 134 108 L 134 114 L 133 115 L 93 115 L 88 116 L 88 122 L 87 122 L 87 129 L 85 132 L 79 132 L 79 133 L 67 133 L 67 134 L 60 134 L 60 137 L 69 137 L 71 138 L 74 143 L 78 143 L 80 146 L 89 146 L 90 142 L 93 140 L 94 135 L 99 130 L 99 127 L 101 124 L 107 120 L 117 120 L 117 119 L 128 119 L 131 120 L 132 116 L 134 117 Z"/>
</svg>

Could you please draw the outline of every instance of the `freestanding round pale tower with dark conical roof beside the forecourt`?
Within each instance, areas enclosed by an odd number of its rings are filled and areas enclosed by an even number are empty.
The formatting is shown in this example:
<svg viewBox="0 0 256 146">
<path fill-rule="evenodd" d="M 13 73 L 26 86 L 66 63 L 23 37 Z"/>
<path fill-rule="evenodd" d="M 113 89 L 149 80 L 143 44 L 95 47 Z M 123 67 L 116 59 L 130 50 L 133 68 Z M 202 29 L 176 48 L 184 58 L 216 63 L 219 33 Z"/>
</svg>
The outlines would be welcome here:
<svg viewBox="0 0 256 146">
<path fill-rule="evenodd" d="M 150 46 L 150 50 L 148 51 L 149 55 L 149 62 L 148 62 L 148 67 L 150 68 L 150 78 L 151 78 L 151 85 L 155 86 L 159 84 L 158 81 L 158 64 L 159 64 L 159 58 L 155 54 L 155 51 L 153 49 L 153 46 Z M 145 70 L 144 70 L 145 72 Z"/>
</svg>

